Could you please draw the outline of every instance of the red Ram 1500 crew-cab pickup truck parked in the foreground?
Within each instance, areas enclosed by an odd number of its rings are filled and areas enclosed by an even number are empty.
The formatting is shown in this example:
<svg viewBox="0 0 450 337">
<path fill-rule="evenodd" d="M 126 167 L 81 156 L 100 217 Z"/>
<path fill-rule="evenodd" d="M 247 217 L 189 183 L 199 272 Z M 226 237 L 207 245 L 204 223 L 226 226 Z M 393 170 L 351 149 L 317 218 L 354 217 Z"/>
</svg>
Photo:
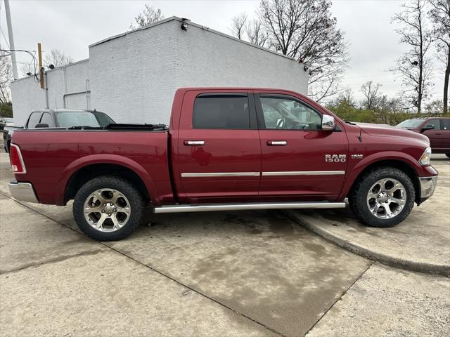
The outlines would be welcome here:
<svg viewBox="0 0 450 337">
<path fill-rule="evenodd" d="M 400 223 L 435 190 L 427 137 L 340 120 L 292 91 L 180 88 L 170 126 L 15 131 L 15 199 L 65 205 L 98 240 L 127 237 L 155 213 L 349 206 Z"/>
</svg>

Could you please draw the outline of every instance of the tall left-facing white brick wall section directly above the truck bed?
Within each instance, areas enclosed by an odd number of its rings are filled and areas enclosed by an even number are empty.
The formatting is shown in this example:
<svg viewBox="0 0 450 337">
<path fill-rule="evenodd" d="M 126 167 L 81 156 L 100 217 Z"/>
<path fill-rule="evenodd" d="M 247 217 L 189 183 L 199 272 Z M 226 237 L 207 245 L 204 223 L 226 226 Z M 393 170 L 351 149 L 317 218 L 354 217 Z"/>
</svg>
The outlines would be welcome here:
<svg viewBox="0 0 450 337">
<path fill-rule="evenodd" d="M 91 105 L 122 123 L 169 123 L 174 21 L 89 47 Z"/>
</svg>

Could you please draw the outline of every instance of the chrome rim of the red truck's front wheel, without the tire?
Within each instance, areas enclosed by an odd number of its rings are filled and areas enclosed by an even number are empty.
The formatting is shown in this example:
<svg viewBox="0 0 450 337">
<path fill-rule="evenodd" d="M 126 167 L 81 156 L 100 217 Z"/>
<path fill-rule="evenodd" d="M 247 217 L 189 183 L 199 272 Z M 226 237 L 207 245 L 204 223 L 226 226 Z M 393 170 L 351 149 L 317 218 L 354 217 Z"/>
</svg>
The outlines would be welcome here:
<svg viewBox="0 0 450 337">
<path fill-rule="evenodd" d="M 398 216 L 405 204 L 406 189 L 397 179 L 380 179 L 372 185 L 367 194 L 369 211 L 380 219 Z"/>
</svg>

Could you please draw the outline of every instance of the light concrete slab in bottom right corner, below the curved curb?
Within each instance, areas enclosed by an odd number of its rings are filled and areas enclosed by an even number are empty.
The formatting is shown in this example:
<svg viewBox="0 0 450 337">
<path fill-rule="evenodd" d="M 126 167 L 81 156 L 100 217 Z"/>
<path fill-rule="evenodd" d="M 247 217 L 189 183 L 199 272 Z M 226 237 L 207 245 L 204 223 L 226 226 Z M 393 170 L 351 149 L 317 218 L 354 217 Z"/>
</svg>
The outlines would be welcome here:
<svg viewBox="0 0 450 337">
<path fill-rule="evenodd" d="M 307 337 L 449 336 L 449 322 L 448 278 L 373 265 Z"/>
</svg>

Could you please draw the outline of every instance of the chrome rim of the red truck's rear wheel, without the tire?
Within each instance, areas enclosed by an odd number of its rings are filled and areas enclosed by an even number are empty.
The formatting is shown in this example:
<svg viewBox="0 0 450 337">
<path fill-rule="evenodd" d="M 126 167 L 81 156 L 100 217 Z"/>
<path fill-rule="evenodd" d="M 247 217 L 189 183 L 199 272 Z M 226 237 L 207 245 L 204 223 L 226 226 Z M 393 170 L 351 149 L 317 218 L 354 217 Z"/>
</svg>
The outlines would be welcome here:
<svg viewBox="0 0 450 337">
<path fill-rule="evenodd" d="M 96 190 L 84 201 L 84 218 L 100 232 L 120 230 L 130 216 L 131 206 L 127 197 L 111 188 Z"/>
</svg>

